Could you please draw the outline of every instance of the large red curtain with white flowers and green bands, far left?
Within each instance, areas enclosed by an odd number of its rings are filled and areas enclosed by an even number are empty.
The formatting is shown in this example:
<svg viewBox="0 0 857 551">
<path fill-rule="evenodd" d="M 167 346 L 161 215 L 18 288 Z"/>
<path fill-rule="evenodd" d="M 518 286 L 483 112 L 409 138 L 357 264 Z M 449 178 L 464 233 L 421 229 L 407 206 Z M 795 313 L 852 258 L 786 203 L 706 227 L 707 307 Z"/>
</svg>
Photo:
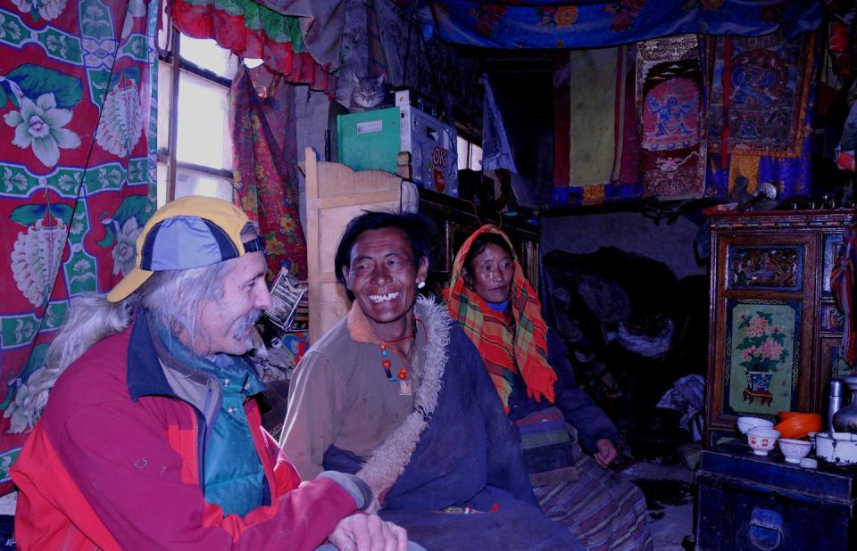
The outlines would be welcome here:
<svg viewBox="0 0 857 551">
<path fill-rule="evenodd" d="M 154 211 L 157 7 L 0 0 L 0 490 L 69 300 L 129 272 Z"/>
</svg>

